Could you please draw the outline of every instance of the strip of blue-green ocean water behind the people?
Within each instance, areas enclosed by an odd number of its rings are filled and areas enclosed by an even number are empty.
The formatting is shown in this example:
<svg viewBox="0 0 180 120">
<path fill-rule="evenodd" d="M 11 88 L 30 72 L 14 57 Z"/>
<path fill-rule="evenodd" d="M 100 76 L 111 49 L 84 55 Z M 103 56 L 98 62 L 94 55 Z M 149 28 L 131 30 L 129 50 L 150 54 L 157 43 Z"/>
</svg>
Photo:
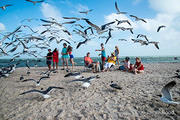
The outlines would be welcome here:
<svg viewBox="0 0 180 120">
<path fill-rule="evenodd" d="M 120 61 L 124 60 L 125 57 L 120 57 Z M 177 59 L 174 59 L 173 56 L 168 57 L 141 57 L 141 61 L 143 63 L 175 63 L 180 62 L 180 56 L 176 57 Z M 101 61 L 100 57 L 92 57 L 93 61 Z M 46 65 L 46 59 L 44 58 L 38 58 L 38 59 L 16 59 L 15 61 L 10 63 L 10 59 L 0 59 L 0 67 L 8 66 L 9 64 L 19 63 L 17 67 L 25 67 L 26 61 L 29 60 L 29 66 L 34 67 L 45 67 Z M 84 65 L 84 58 L 74 58 L 75 65 L 76 66 L 83 66 Z M 135 63 L 135 57 L 130 57 L 131 63 Z M 70 62 L 69 62 L 70 64 Z M 59 65 L 62 65 L 61 59 L 59 60 Z"/>
</svg>

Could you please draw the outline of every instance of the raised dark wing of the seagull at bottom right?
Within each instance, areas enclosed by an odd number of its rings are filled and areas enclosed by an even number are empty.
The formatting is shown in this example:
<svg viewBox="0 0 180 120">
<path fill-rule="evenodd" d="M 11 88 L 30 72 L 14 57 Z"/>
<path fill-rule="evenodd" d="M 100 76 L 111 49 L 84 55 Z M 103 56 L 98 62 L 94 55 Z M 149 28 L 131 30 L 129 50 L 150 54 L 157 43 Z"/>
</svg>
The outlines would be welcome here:
<svg viewBox="0 0 180 120">
<path fill-rule="evenodd" d="M 161 90 L 163 97 L 165 97 L 168 100 L 172 101 L 170 89 L 172 89 L 175 85 L 176 85 L 175 81 L 171 81 L 168 84 L 166 84 Z"/>
</svg>

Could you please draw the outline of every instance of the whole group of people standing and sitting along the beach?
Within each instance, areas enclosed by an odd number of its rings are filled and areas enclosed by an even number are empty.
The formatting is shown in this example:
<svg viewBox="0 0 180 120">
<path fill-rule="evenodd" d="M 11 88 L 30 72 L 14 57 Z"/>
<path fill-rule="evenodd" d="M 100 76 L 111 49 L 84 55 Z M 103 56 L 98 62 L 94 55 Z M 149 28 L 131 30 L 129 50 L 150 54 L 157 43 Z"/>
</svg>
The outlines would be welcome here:
<svg viewBox="0 0 180 120">
<path fill-rule="evenodd" d="M 72 49 L 73 48 L 70 45 L 67 46 L 66 43 L 63 44 L 63 49 L 61 51 L 62 67 L 63 67 L 62 70 L 65 69 L 65 64 L 66 64 L 66 68 L 68 69 L 68 59 L 70 60 L 72 64 L 72 70 L 73 70 L 75 62 L 74 62 L 74 56 L 72 54 Z M 48 49 L 48 51 L 49 52 L 46 58 L 47 58 L 47 65 L 48 65 L 49 70 L 51 70 L 51 61 L 53 61 L 53 69 L 55 69 L 55 66 L 56 66 L 56 69 L 58 69 L 59 52 L 57 48 L 55 48 L 53 52 L 51 52 L 51 49 Z M 136 57 L 136 62 L 134 65 L 130 63 L 129 57 L 126 57 L 125 60 L 123 61 L 119 61 L 120 51 L 119 51 L 118 46 L 115 46 L 114 52 L 112 52 L 111 55 L 108 56 L 107 58 L 106 58 L 106 52 L 105 52 L 103 43 L 101 43 L 101 49 L 97 49 L 95 51 L 101 52 L 99 54 L 99 56 L 101 56 L 101 62 L 93 61 L 90 57 L 90 52 L 88 52 L 86 56 L 84 57 L 85 67 L 92 68 L 93 72 L 108 71 L 112 67 L 114 67 L 116 63 L 120 65 L 120 62 L 123 62 L 123 65 L 119 66 L 119 70 L 133 72 L 135 74 L 144 72 L 144 66 L 141 62 L 141 59 L 138 57 Z"/>
</svg>

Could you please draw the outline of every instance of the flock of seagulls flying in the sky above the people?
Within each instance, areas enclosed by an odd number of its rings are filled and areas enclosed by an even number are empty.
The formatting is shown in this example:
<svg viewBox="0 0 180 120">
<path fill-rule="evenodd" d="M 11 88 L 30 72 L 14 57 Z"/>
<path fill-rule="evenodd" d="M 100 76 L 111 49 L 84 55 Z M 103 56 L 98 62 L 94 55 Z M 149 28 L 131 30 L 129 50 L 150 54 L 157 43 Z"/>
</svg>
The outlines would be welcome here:
<svg viewBox="0 0 180 120">
<path fill-rule="evenodd" d="M 42 3 L 41 1 L 32 1 L 26 0 L 27 2 L 32 2 L 34 5 L 36 3 Z M 12 6 L 10 4 L 1 6 L 3 10 L 6 7 Z M 117 14 L 127 14 L 127 12 L 121 12 L 118 8 L 117 2 L 115 2 L 115 8 Z M 92 12 L 93 9 L 79 11 L 81 14 L 88 15 Z M 144 22 L 146 24 L 148 21 L 137 17 L 135 15 L 129 15 L 131 18 L 134 18 L 135 21 Z M 88 41 L 92 39 L 105 39 L 105 44 L 112 39 L 112 31 L 122 30 L 122 31 L 130 31 L 131 34 L 134 34 L 133 28 L 131 27 L 131 23 L 128 20 L 118 20 L 115 19 L 112 22 L 106 23 L 104 25 L 98 26 L 90 21 L 90 19 L 86 17 L 63 17 L 65 22 L 58 22 L 55 18 L 49 17 L 47 19 L 24 19 L 21 21 L 20 26 L 18 26 L 12 32 L 0 33 L 0 55 L 1 56 L 12 56 L 12 61 L 14 59 L 19 58 L 21 55 L 30 55 L 33 57 L 41 56 L 41 52 L 44 49 L 48 49 L 52 41 L 56 41 L 57 44 L 63 42 L 67 42 L 68 44 L 77 43 L 76 49 L 78 49 L 81 45 L 86 44 Z M 67 20 L 67 21 L 66 21 Z M 26 25 L 24 23 L 31 23 L 32 21 L 41 21 L 40 30 L 35 30 L 31 25 Z M 122 27 L 119 26 L 121 24 L 127 23 L 130 27 Z M 67 26 L 70 25 L 69 28 Z M 113 27 L 114 25 L 115 27 Z M 159 32 L 162 28 L 166 26 L 161 25 L 158 27 L 157 32 Z M 72 30 L 72 31 L 70 31 Z M 62 37 L 62 34 L 65 37 Z M 81 37 L 83 40 L 75 41 L 72 36 L 77 35 Z M 124 38 L 119 38 L 119 41 L 128 41 Z M 159 42 L 150 41 L 147 35 L 138 34 L 136 38 L 131 39 L 134 43 L 140 43 L 141 45 L 149 45 L 154 44 L 157 49 L 159 49 Z M 20 50 L 22 49 L 22 50 Z M 18 52 L 17 52 L 18 51 Z"/>
</svg>

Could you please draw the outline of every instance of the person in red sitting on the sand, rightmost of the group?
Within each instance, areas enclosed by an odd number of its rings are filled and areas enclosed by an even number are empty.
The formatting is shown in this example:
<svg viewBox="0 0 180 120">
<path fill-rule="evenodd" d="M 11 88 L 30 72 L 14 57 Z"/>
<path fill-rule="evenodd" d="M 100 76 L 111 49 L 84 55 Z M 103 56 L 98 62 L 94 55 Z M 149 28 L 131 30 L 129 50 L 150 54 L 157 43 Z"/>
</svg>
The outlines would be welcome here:
<svg viewBox="0 0 180 120">
<path fill-rule="evenodd" d="M 143 72 L 144 72 L 144 66 L 141 62 L 141 59 L 139 57 L 136 57 L 136 63 L 134 64 L 134 74 L 143 73 Z"/>
</svg>

